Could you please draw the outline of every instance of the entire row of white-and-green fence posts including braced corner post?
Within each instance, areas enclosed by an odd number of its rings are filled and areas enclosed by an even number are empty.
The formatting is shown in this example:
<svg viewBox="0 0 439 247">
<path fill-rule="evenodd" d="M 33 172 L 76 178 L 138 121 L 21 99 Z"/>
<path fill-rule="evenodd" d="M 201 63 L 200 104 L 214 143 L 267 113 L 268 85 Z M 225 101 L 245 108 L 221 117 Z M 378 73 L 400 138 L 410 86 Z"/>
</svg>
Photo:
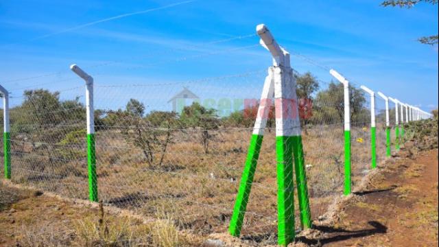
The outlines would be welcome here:
<svg viewBox="0 0 439 247">
<path fill-rule="evenodd" d="M 246 206 L 252 187 L 254 172 L 256 171 L 257 160 L 261 150 L 263 130 L 266 125 L 270 106 L 263 104 L 269 102 L 267 99 L 274 98 L 276 113 L 276 164 L 277 164 L 277 185 L 278 185 L 278 244 L 287 246 L 294 241 L 294 185 L 293 175 L 296 174 L 296 185 L 298 189 L 298 200 L 300 207 L 300 223 L 302 228 L 311 228 L 311 213 L 309 196 L 307 191 L 307 176 L 305 174 L 305 159 L 303 155 L 302 138 L 300 130 L 300 119 L 296 95 L 296 80 L 290 66 L 289 53 L 276 43 L 268 28 L 261 24 L 257 26 L 257 34 L 261 38 L 261 45 L 272 54 L 273 65 L 268 69 L 268 76 L 265 78 L 261 95 L 259 111 L 261 113 L 254 124 L 248 156 L 241 176 L 239 191 L 237 194 L 233 215 L 230 219 L 229 232 L 233 236 L 239 236 L 244 222 Z M 88 198 L 92 202 L 98 201 L 97 195 L 97 174 L 96 174 L 96 153 L 95 153 L 95 126 L 93 111 L 93 78 L 82 71 L 78 65 L 71 65 L 70 69 L 86 82 L 86 128 L 87 128 L 87 167 L 88 167 Z M 351 193 L 351 113 L 349 97 L 349 81 L 340 73 L 331 69 L 329 71 L 334 78 L 344 86 L 344 195 Z M 376 157 L 376 128 L 375 128 L 375 92 L 366 86 L 361 89 L 370 95 L 370 135 L 371 135 L 371 167 L 377 166 Z M 10 179 L 11 174 L 11 143 L 10 143 L 10 108 L 9 93 L 3 86 L 0 86 L 0 93 L 3 96 L 3 142 L 4 142 L 4 177 Z M 395 148 L 399 145 L 404 135 L 401 124 L 409 121 L 418 121 L 431 117 L 431 114 L 409 104 L 404 104 L 398 99 L 387 97 L 381 92 L 377 94 L 385 100 L 385 133 L 386 133 L 386 156 L 391 155 L 390 147 L 390 119 L 389 100 L 395 104 Z M 293 102 L 293 104 L 291 104 Z M 292 107 L 289 107 L 292 106 Z M 405 118 L 404 118 L 405 108 Z M 401 112 L 401 124 L 399 115 Z M 292 117 L 294 116 L 294 117 Z M 294 171 L 293 172 L 293 167 Z"/>
</svg>

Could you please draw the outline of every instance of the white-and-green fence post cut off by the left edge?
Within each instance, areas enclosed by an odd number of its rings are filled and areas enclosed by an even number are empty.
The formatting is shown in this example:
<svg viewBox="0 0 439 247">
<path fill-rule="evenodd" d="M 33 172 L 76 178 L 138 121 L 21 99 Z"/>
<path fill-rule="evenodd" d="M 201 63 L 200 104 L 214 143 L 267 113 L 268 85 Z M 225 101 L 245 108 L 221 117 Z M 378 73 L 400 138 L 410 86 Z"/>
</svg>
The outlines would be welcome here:
<svg viewBox="0 0 439 247">
<path fill-rule="evenodd" d="M 9 120 L 9 93 L 0 86 L 0 93 L 3 95 L 3 150 L 5 178 L 11 179 L 11 137 L 10 137 L 10 120 Z"/>
</svg>

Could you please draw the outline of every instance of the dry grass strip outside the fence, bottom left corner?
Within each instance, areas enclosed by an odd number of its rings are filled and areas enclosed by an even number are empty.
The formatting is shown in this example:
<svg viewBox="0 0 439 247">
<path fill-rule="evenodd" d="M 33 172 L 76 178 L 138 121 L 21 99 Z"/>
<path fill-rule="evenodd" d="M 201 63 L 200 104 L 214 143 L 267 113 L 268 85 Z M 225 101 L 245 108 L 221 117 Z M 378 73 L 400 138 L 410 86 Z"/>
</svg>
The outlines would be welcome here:
<svg viewBox="0 0 439 247">
<path fill-rule="evenodd" d="M 3 182 L 4 183 L 4 182 Z M 200 246 L 170 218 L 145 222 L 97 204 L 0 183 L 0 246 Z"/>
</svg>

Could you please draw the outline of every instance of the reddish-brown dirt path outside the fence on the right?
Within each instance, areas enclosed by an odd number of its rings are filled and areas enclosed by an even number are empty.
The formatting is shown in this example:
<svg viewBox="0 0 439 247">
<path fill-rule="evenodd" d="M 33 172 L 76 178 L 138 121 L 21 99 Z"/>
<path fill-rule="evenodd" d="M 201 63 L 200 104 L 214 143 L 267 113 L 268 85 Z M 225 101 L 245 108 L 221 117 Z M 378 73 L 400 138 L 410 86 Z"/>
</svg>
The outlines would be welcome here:
<svg viewBox="0 0 439 247">
<path fill-rule="evenodd" d="M 402 158 L 405 157 L 405 158 Z M 399 157 L 379 167 L 355 193 L 318 246 L 438 246 L 438 150 Z"/>
</svg>

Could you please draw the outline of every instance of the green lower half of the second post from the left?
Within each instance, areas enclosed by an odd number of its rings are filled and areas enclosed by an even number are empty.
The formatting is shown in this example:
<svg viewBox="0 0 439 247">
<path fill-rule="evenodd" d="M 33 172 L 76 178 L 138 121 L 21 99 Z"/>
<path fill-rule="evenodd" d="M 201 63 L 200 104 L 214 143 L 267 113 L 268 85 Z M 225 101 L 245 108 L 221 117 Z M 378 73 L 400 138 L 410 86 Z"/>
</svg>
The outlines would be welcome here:
<svg viewBox="0 0 439 247">
<path fill-rule="evenodd" d="M 97 202 L 95 134 L 87 134 L 88 198 Z"/>
</svg>

